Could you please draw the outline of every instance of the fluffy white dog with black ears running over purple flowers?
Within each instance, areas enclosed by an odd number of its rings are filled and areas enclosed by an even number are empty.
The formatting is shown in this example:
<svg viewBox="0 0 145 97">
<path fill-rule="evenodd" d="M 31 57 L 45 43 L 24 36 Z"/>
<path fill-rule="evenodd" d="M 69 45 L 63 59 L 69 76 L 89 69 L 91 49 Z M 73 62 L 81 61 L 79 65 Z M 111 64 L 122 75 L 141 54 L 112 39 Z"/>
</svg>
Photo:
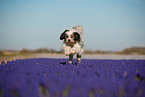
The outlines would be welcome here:
<svg viewBox="0 0 145 97">
<path fill-rule="evenodd" d="M 71 29 L 66 29 L 61 35 L 63 49 L 66 56 L 69 56 L 69 63 L 73 63 L 73 55 L 77 54 L 77 62 L 81 63 L 81 57 L 84 53 L 84 32 L 83 27 L 77 25 Z"/>
</svg>

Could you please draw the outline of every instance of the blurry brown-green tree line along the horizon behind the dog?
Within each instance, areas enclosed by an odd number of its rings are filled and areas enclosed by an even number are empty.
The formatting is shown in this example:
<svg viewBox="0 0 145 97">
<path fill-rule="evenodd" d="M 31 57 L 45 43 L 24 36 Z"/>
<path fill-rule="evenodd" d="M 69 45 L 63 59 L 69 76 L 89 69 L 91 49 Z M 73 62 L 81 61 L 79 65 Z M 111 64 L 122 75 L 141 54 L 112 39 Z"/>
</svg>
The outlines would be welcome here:
<svg viewBox="0 0 145 97">
<path fill-rule="evenodd" d="M 4 50 L 0 50 L 0 55 L 4 55 Z M 35 50 L 29 50 L 29 49 L 22 49 L 20 51 L 17 51 L 17 53 L 63 53 L 63 50 L 54 50 L 54 49 L 47 49 L 47 48 L 39 48 Z M 126 48 L 122 51 L 102 51 L 102 50 L 85 50 L 85 54 L 145 54 L 145 47 L 130 47 Z"/>
</svg>

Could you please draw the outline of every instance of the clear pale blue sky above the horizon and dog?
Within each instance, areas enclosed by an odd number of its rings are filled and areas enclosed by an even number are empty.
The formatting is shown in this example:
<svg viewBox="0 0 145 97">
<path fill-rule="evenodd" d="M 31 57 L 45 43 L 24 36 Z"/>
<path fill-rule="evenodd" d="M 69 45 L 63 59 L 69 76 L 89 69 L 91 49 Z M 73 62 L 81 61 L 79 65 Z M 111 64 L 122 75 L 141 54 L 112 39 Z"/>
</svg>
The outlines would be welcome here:
<svg viewBox="0 0 145 97">
<path fill-rule="evenodd" d="M 76 25 L 88 50 L 145 47 L 145 0 L 0 0 L 0 49 L 60 50 Z"/>
</svg>

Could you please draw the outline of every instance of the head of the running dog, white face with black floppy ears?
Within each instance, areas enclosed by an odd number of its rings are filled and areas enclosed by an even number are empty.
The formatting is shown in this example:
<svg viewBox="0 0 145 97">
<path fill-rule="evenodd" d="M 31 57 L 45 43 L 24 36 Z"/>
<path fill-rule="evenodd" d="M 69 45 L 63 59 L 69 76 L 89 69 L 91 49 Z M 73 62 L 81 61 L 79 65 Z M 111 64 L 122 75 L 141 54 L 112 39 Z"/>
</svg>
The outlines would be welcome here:
<svg viewBox="0 0 145 97">
<path fill-rule="evenodd" d="M 80 34 L 75 29 L 67 29 L 60 35 L 60 40 L 64 40 L 68 45 L 73 45 L 76 42 L 79 42 L 80 39 Z"/>
</svg>

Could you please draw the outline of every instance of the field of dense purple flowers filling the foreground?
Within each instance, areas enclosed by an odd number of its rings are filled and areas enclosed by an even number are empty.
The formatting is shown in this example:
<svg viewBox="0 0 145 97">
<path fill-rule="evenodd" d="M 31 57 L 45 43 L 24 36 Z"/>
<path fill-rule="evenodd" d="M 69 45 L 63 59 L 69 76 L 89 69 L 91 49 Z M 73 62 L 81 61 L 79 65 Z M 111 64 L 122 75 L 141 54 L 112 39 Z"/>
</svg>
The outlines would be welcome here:
<svg viewBox="0 0 145 97">
<path fill-rule="evenodd" d="M 145 97 L 145 60 L 3 61 L 0 97 Z"/>
</svg>

